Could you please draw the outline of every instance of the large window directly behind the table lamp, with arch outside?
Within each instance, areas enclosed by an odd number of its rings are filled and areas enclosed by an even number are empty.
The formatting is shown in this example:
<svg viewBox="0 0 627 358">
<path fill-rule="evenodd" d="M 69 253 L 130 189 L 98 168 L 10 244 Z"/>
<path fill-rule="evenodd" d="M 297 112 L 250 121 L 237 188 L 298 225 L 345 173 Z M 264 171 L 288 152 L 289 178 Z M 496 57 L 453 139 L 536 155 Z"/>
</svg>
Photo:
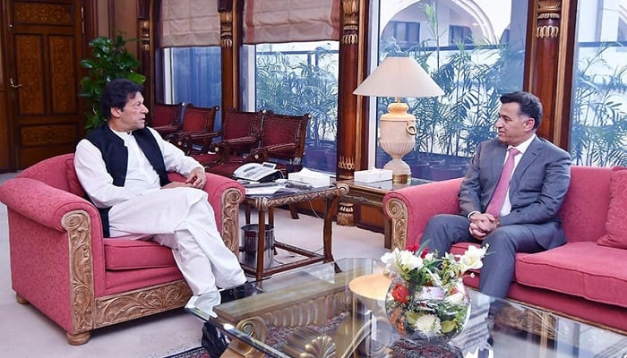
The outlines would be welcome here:
<svg viewBox="0 0 627 358">
<path fill-rule="evenodd" d="M 373 29 L 379 38 L 379 62 L 388 55 L 412 56 L 445 93 L 440 98 L 404 99 L 409 113 L 417 117 L 417 146 L 403 158 L 412 176 L 433 180 L 462 176 L 478 143 L 494 138 L 499 97 L 522 87 L 526 14 L 527 2 L 514 0 L 499 6 L 379 1 L 379 19 L 371 21 L 383 29 Z M 395 46 L 385 36 L 395 21 L 419 23 L 417 47 Z M 477 44 L 468 42 L 470 35 Z M 378 98 L 376 118 L 391 100 Z M 376 153 L 377 167 L 390 160 L 378 144 L 370 151 Z"/>
</svg>

